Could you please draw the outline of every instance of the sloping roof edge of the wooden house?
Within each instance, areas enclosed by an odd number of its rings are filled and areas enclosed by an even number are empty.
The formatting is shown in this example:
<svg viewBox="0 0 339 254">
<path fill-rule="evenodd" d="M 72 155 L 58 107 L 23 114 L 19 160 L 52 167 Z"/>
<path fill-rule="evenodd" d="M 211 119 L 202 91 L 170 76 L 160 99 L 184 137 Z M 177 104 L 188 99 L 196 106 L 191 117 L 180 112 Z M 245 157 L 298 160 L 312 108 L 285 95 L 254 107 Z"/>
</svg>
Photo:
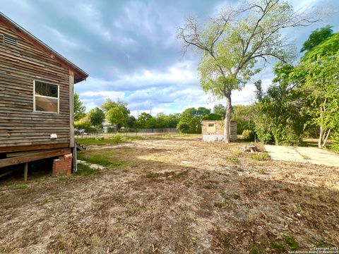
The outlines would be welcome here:
<svg viewBox="0 0 339 254">
<path fill-rule="evenodd" d="M 20 25 L 15 23 L 13 20 L 11 20 L 11 18 L 8 18 L 6 15 L 4 15 L 4 13 L 1 13 L 1 11 L 0 11 L 0 20 L 3 20 L 8 25 L 13 26 L 13 28 L 15 28 L 17 32 L 22 32 L 23 35 L 25 35 L 26 37 L 29 37 L 31 40 L 33 40 L 37 44 L 40 44 L 40 46 L 42 46 L 48 52 L 52 53 L 54 56 L 57 56 L 57 58 L 59 60 L 61 60 L 62 62 L 66 63 L 67 66 L 70 66 L 73 69 L 73 71 L 75 72 L 74 73 L 74 83 L 81 82 L 81 81 L 85 80 L 88 77 L 88 73 L 85 73 L 85 71 L 83 71 L 81 68 L 76 66 L 74 63 L 71 63 L 71 61 L 69 61 L 66 58 L 64 58 L 64 56 L 61 56 L 61 54 L 56 52 L 54 49 L 49 47 L 47 44 L 45 44 L 41 40 L 37 39 L 37 37 L 35 37 L 30 32 L 25 30 L 25 28 L 22 28 Z"/>
</svg>

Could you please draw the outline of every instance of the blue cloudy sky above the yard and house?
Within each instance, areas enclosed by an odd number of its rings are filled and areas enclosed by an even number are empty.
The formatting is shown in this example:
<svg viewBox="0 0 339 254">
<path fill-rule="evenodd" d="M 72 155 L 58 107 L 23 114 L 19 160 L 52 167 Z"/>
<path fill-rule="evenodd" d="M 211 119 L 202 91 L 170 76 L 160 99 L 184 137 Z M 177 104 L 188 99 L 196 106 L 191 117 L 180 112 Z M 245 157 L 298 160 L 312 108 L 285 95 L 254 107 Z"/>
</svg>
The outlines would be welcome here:
<svg viewBox="0 0 339 254">
<path fill-rule="evenodd" d="M 297 9 L 335 10 L 323 23 L 286 32 L 297 49 L 311 30 L 330 24 L 339 31 L 338 0 L 290 2 Z M 89 73 L 88 80 L 76 85 L 88 110 L 106 98 L 120 98 L 135 115 L 150 109 L 152 114 L 170 114 L 218 103 L 201 90 L 198 54 L 182 56 L 177 28 L 186 16 L 204 22 L 223 6 L 235 4 L 236 0 L 0 0 L 0 11 Z M 254 80 L 269 85 L 271 67 Z M 234 104 L 253 100 L 253 80 L 232 95 Z"/>
</svg>

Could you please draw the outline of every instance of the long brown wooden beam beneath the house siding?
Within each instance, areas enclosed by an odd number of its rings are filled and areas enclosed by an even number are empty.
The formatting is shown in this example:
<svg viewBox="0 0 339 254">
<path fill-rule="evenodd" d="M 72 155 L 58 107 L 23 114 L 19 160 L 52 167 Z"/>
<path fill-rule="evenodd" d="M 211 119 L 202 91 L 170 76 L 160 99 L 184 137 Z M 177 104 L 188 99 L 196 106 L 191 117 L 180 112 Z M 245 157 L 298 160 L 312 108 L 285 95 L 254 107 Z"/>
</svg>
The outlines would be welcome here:
<svg viewBox="0 0 339 254">
<path fill-rule="evenodd" d="M 7 158 L 7 159 L 0 159 L 0 168 L 1 167 L 8 167 L 11 165 L 26 163 L 26 162 L 33 162 L 39 159 L 46 159 L 50 157 L 57 157 L 59 155 L 66 155 L 71 153 L 70 148 L 66 149 L 59 149 L 59 150 L 52 150 L 47 152 L 37 152 L 34 155 L 23 155 L 13 158 Z"/>
</svg>

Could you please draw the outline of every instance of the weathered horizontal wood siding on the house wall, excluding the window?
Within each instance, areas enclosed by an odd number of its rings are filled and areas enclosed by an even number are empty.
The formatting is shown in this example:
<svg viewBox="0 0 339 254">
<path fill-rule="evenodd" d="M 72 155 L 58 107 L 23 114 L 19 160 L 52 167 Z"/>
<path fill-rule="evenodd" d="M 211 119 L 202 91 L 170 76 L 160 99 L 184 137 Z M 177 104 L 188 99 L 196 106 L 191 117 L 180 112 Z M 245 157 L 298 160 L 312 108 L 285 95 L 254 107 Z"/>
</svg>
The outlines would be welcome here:
<svg viewBox="0 0 339 254">
<path fill-rule="evenodd" d="M 4 34 L 16 37 L 17 46 L 4 44 Z M 33 111 L 33 80 L 59 85 L 59 114 Z M 0 152 L 69 147 L 69 82 L 67 66 L 0 20 Z M 51 133 L 58 138 L 51 140 Z"/>
</svg>

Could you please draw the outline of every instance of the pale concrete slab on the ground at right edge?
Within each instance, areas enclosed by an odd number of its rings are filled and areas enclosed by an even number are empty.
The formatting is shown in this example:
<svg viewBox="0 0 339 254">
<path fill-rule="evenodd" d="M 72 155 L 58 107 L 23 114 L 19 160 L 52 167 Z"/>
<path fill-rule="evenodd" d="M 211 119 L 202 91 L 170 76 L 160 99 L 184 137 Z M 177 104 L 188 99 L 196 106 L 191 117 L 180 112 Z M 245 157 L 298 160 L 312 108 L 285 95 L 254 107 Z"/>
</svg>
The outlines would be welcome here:
<svg viewBox="0 0 339 254">
<path fill-rule="evenodd" d="M 339 167 L 339 155 L 317 147 L 265 145 L 265 149 L 275 160 Z"/>
</svg>

